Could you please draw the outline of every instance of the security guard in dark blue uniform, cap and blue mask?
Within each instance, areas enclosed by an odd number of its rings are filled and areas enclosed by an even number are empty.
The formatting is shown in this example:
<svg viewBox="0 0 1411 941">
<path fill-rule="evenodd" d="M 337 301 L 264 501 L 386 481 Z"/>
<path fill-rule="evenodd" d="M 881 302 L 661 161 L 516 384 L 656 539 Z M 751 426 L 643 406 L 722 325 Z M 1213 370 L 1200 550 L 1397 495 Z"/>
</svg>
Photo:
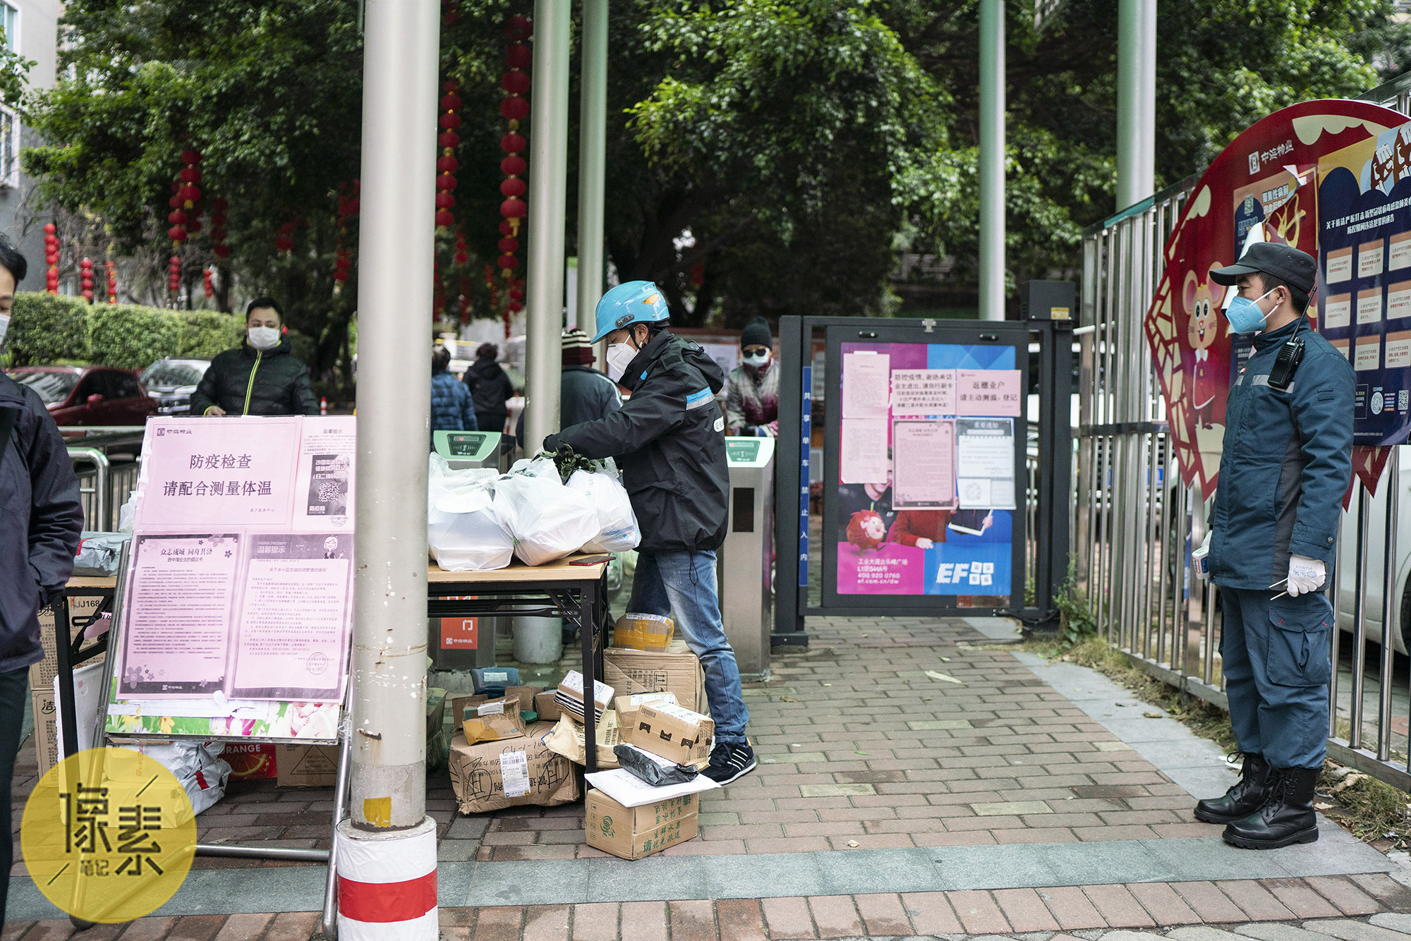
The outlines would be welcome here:
<svg viewBox="0 0 1411 941">
<path fill-rule="evenodd" d="M 1223 797 L 1199 801 L 1195 815 L 1228 824 L 1225 841 L 1249 849 L 1318 839 L 1312 800 L 1328 738 L 1335 629 L 1319 588 L 1352 475 L 1353 371 L 1304 316 L 1315 272 L 1308 254 L 1268 243 L 1211 271 L 1239 289 L 1226 309 L 1230 329 L 1257 336 L 1225 406 L 1206 536 L 1245 767 Z"/>
</svg>

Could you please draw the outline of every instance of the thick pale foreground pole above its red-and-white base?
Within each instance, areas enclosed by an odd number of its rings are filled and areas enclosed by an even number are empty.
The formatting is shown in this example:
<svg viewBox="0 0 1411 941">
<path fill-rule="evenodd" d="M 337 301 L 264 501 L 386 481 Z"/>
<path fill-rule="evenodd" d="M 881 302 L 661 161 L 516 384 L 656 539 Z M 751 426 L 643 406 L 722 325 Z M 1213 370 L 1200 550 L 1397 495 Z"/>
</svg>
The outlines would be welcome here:
<svg viewBox="0 0 1411 941">
<path fill-rule="evenodd" d="M 440 4 L 367 0 L 364 41 L 350 803 L 356 830 L 385 832 L 426 818 L 425 326 Z"/>
</svg>

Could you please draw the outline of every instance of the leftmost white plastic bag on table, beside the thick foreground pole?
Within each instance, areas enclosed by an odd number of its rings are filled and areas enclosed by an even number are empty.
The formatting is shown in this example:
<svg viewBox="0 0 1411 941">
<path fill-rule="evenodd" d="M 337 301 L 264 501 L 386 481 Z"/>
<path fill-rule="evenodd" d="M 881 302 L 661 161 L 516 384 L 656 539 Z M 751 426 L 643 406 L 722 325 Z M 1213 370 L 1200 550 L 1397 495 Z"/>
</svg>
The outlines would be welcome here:
<svg viewBox="0 0 1411 941">
<path fill-rule="evenodd" d="M 514 538 L 491 509 L 495 471 L 452 470 L 430 456 L 426 477 L 426 545 L 446 571 L 504 569 L 514 557 Z"/>
</svg>

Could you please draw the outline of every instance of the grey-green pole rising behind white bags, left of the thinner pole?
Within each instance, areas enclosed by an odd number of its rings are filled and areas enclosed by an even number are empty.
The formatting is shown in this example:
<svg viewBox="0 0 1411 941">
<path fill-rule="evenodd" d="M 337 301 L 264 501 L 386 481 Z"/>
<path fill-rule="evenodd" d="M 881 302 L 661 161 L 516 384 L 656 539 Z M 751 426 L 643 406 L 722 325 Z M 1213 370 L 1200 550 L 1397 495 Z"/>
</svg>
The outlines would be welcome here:
<svg viewBox="0 0 1411 941">
<path fill-rule="evenodd" d="M 563 229 L 569 200 L 569 0 L 535 0 L 525 286 L 525 453 L 529 456 L 559 430 Z M 581 268 L 579 274 L 583 275 Z"/>
</svg>

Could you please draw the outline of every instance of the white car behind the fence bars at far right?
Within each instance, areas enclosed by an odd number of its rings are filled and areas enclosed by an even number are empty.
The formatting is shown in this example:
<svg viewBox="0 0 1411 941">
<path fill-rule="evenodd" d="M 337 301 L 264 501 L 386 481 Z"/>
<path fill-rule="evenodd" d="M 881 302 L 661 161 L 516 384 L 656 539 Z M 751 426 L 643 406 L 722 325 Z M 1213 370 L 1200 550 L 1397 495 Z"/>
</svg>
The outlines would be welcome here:
<svg viewBox="0 0 1411 941">
<path fill-rule="evenodd" d="M 1391 594 L 1391 646 L 1411 650 L 1411 447 L 1400 446 L 1400 474 L 1397 487 L 1395 559 Z M 1357 484 L 1362 490 L 1362 484 Z M 1366 494 L 1363 494 L 1366 497 Z M 1357 498 L 1352 498 L 1349 512 L 1342 515 L 1338 552 L 1338 626 L 1353 629 L 1353 601 L 1362 594 L 1364 633 L 1374 643 L 1381 642 L 1381 597 L 1387 519 L 1387 480 L 1377 487 L 1377 495 L 1367 499 L 1367 569 L 1357 584 Z"/>
</svg>

